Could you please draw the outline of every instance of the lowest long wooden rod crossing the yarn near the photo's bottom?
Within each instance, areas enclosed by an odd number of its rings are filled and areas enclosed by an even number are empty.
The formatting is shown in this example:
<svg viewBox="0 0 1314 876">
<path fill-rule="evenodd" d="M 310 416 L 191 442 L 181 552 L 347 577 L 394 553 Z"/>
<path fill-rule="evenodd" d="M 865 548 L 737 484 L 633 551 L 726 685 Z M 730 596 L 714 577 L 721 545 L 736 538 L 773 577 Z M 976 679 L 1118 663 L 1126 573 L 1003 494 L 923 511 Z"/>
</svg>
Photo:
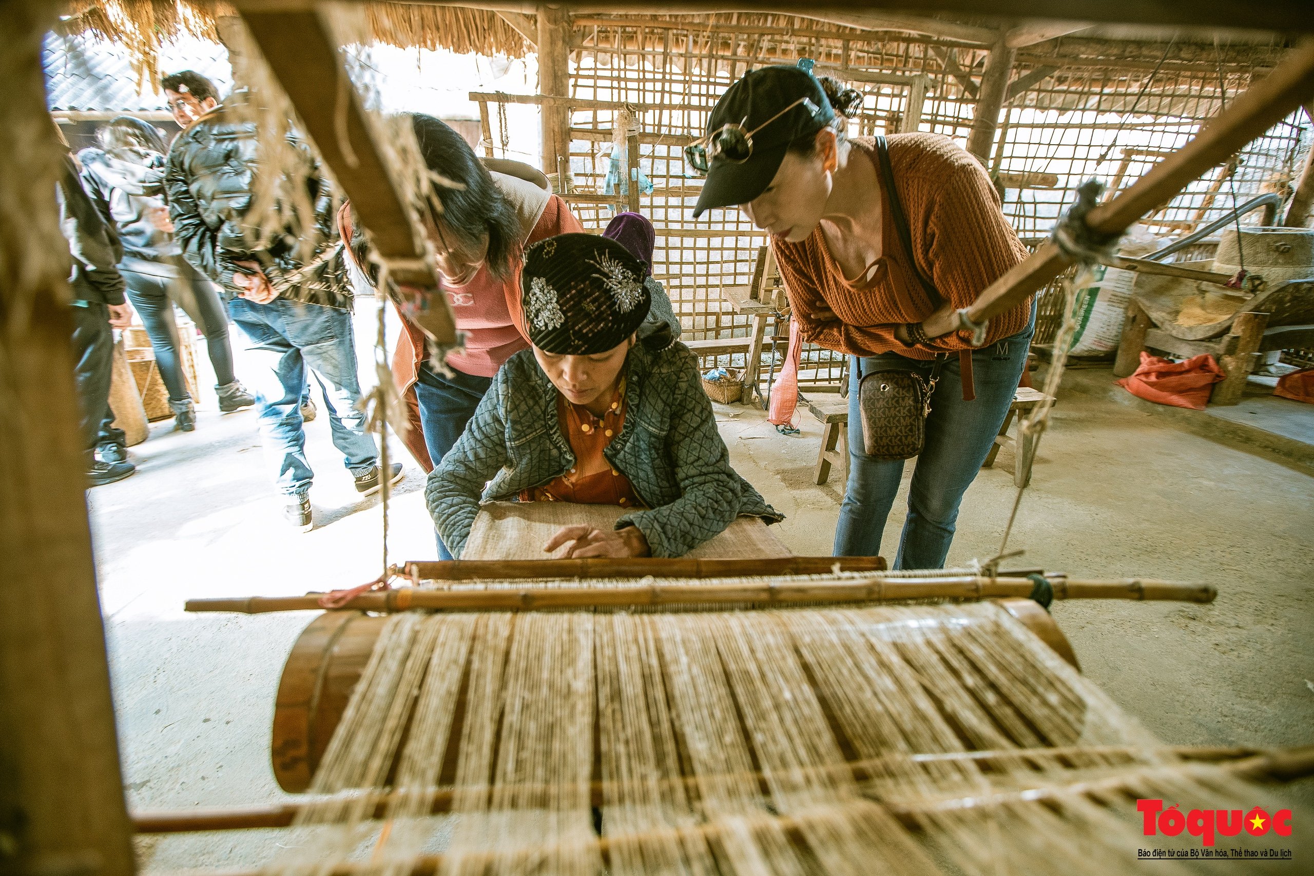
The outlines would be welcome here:
<svg viewBox="0 0 1314 876">
<path fill-rule="evenodd" d="M 1175 746 L 1164 750 L 1171 756 L 1181 760 L 1197 763 L 1225 763 L 1227 770 L 1252 781 L 1285 783 L 1294 781 L 1314 774 L 1314 746 L 1301 746 L 1294 749 L 1259 750 L 1250 747 L 1221 747 L 1221 746 Z M 883 776 L 897 775 L 901 767 L 908 764 L 929 763 L 975 763 L 982 767 L 999 766 L 1007 768 L 1017 763 L 1045 764 L 1060 762 L 1060 766 L 1080 768 L 1089 766 L 1097 759 L 1134 760 L 1143 751 L 1130 746 L 1067 746 L 1054 749 L 1003 749 L 992 751 L 947 751 L 936 754 L 892 755 L 887 758 L 874 758 L 870 760 L 854 760 L 842 766 L 823 767 L 816 771 L 804 771 L 816 775 L 837 775 L 845 780 L 851 779 L 858 783 L 878 780 Z M 1101 764 L 1102 766 L 1102 764 Z M 846 775 L 845 775 L 846 774 Z M 700 784 L 723 781 L 733 776 L 699 776 L 678 779 L 685 785 L 687 793 L 698 796 Z M 770 793 L 766 776 L 756 772 L 752 776 L 758 783 L 758 791 Z M 668 779 L 665 783 L 673 780 Z M 606 805 L 607 796 L 624 791 L 624 783 L 589 783 L 589 799 L 594 806 Z M 490 789 L 490 788 L 489 788 Z M 545 792 L 548 785 L 518 785 L 522 793 Z M 386 818 L 389 806 L 409 799 L 431 797 L 430 812 L 444 814 L 452 810 L 452 801 L 457 791 L 472 791 L 470 788 L 431 788 L 427 791 L 393 791 L 393 792 L 363 792 L 374 802 L 373 818 Z M 139 834 L 179 834 L 198 833 L 208 830 L 250 830 L 255 827 L 289 827 L 297 816 L 307 808 L 319 802 L 346 801 L 342 795 L 310 796 L 292 802 L 264 804 L 251 806 L 215 806 L 209 809 L 142 809 L 133 813 L 133 827 Z M 895 816 L 912 816 L 915 812 L 895 809 Z M 900 818 L 903 821 L 903 818 Z M 920 822 L 908 818 L 905 826 L 916 829 Z"/>
</svg>

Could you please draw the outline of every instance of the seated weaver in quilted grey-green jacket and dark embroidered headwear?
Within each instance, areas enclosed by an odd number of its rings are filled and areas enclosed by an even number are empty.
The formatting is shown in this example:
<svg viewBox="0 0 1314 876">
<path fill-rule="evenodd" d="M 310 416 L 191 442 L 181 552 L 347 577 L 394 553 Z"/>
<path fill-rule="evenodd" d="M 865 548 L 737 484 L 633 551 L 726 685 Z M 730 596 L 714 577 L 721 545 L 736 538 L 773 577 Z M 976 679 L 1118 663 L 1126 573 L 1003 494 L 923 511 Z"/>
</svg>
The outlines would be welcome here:
<svg viewBox="0 0 1314 876">
<path fill-rule="evenodd" d="M 738 515 L 781 520 L 729 465 L 698 360 L 665 326 L 639 331 L 644 265 L 608 238 L 564 234 L 524 251 L 531 349 L 498 370 L 426 498 L 461 556 L 481 496 L 616 504 L 615 529 L 564 527 L 570 557 L 678 557 Z M 486 485 L 486 486 L 485 486 Z"/>
</svg>

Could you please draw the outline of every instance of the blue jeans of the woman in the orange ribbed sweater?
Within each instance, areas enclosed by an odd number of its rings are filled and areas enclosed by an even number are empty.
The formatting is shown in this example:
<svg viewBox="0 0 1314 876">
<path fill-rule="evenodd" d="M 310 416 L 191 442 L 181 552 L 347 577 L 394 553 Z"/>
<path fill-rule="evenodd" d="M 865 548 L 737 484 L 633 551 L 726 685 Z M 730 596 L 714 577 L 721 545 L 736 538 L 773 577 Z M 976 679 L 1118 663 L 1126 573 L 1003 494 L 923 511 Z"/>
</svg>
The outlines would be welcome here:
<svg viewBox="0 0 1314 876">
<path fill-rule="evenodd" d="M 950 353 L 945 361 L 930 397 L 926 443 L 912 473 L 908 517 L 899 536 L 895 569 L 940 569 L 945 565 L 954 540 L 958 506 L 980 471 L 1013 403 L 1013 391 L 1026 368 L 1026 352 L 1034 331 L 1033 309 L 1031 323 L 1025 330 L 972 351 L 975 401 L 963 401 L 958 356 Z M 899 493 L 904 461 L 874 460 L 863 452 L 858 381 L 862 374 L 886 368 L 912 369 L 929 378 L 934 362 L 882 353 L 870 359 L 853 357 L 849 365 L 849 482 L 834 529 L 834 556 L 866 557 L 880 553 L 880 537 Z"/>
</svg>

